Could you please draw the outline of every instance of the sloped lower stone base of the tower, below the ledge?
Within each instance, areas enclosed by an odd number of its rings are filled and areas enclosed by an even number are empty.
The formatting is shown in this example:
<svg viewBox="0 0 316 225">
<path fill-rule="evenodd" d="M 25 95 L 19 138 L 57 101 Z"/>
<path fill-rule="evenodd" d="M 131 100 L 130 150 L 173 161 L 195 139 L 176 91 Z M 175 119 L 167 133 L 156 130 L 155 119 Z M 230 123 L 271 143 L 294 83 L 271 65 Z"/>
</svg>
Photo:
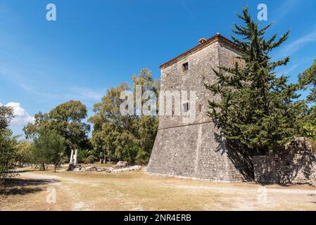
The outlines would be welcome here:
<svg viewBox="0 0 316 225">
<path fill-rule="evenodd" d="M 211 122 L 160 129 L 147 172 L 215 181 L 251 179 L 244 156 L 227 148 Z"/>
</svg>

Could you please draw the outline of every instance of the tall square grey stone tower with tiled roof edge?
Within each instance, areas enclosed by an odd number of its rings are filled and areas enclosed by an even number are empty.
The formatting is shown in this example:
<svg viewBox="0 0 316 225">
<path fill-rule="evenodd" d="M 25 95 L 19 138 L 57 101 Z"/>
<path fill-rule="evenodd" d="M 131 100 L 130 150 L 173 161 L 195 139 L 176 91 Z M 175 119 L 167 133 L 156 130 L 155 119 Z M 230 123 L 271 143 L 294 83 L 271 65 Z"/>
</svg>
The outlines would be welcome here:
<svg viewBox="0 0 316 225">
<path fill-rule="evenodd" d="M 208 100 L 220 97 L 213 96 L 203 85 L 215 82 L 212 68 L 233 66 L 241 51 L 220 34 L 198 43 L 160 66 L 160 91 L 196 91 L 196 118 L 184 122 L 173 111 L 172 115 L 160 116 L 147 172 L 215 181 L 249 179 L 248 161 L 228 148 L 207 115 Z"/>
</svg>

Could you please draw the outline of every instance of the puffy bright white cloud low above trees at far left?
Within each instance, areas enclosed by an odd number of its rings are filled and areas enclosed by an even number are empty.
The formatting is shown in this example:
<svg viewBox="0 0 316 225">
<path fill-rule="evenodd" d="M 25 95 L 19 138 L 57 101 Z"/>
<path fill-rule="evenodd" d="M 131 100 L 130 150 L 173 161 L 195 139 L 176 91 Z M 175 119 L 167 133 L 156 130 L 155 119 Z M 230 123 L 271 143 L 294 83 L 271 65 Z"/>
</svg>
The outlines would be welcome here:
<svg viewBox="0 0 316 225">
<path fill-rule="evenodd" d="M 2 105 L 0 103 L 0 105 Z M 27 111 L 21 107 L 20 103 L 7 103 L 6 107 L 13 108 L 13 115 L 15 116 L 11 120 L 11 125 L 26 125 L 29 122 L 34 122 L 34 117 L 32 117 Z"/>
</svg>

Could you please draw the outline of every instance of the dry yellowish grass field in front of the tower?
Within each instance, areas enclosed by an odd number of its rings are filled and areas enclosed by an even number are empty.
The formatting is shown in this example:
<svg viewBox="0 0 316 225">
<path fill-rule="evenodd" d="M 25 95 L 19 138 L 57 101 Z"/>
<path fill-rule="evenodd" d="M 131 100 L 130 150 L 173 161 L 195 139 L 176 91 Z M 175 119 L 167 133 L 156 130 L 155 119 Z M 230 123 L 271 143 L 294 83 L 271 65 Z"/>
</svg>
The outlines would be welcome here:
<svg viewBox="0 0 316 225">
<path fill-rule="evenodd" d="M 316 188 L 310 186 L 227 184 L 144 172 L 19 173 L 0 188 L 0 210 L 316 210 Z"/>
</svg>

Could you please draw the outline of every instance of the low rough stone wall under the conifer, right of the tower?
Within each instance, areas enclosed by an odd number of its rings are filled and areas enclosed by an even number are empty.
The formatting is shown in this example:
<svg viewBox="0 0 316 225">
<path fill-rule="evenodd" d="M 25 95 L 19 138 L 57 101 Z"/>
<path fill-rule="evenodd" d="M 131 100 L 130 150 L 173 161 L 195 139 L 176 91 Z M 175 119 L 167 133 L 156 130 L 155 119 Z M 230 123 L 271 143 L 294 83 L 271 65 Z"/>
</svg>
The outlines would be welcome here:
<svg viewBox="0 0 316 225">
<path fill-rule="evenodd" d="M 272 156 L 254 156 L 255 181 L 316 186 L 316 153 L 307 139 L 298 138 Z"/>
</svg>

